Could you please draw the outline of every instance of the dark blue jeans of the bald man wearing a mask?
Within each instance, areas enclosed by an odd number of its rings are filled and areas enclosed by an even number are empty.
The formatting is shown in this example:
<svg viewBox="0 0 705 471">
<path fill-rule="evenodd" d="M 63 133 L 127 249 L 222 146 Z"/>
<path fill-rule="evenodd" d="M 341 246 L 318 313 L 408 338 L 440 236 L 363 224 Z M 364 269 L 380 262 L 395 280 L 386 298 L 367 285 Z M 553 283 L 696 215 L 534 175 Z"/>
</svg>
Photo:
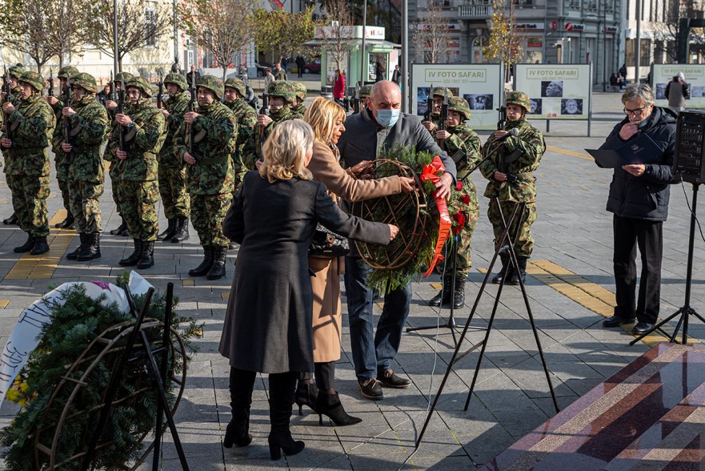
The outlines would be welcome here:
<svg viewBox="0 0 705 471">
<path fill-rule="evenodd" d="M 384 296 L 384 307 L 375 334 L 372 290 L 367 288 L 369 270 L 369 265 L 359 257 L 345 257 L 350 347 L 359 381 L 374 378 L 378 369 L 389 369 L 391 366 L 399 350 L 412 296 L 410 284 Z"/>
</svg>

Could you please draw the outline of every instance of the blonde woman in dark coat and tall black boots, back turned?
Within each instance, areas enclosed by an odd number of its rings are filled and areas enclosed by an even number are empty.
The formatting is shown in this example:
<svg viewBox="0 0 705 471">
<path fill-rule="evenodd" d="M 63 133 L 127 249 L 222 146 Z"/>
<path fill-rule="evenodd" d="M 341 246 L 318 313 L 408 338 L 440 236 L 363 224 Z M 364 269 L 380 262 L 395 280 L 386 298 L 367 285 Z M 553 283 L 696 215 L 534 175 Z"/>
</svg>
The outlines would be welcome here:
<svg viewBox="0 0 705 471">
<path fill-rule="evenodd" d="M 289 432 L 298 372 L 313 371 L 313 295 L 308 247 L 317 222 L 336 233 L 388 244 L 396 226 L 342 212 L 305 168 L 313 154 L 311 127 L 280 123 L 263 147 L 264 164 L 245 175 L 223 232 L 240 244 L 220 353 L 230 359 L 233 418 L 223 446 L 246 446 L 257 372 L 269 373 L 269 452 L 299 453 Z"/>
</svg>

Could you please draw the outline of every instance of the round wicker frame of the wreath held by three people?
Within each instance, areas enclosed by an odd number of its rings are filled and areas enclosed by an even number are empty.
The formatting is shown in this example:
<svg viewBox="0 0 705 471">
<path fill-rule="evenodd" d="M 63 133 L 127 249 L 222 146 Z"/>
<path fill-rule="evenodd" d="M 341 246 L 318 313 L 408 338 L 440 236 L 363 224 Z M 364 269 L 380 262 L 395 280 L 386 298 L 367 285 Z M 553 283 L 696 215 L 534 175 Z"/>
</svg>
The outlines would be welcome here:
<svg viewBox="0 0 705 471">
<path fill-rule="evenodd" d="M 386 166 L 396 167 L 396 174 L 400 177 L 414 178 L 417 188 L 423 188 L 423 183 L 419 176 L 409 166 L 402 164 L 400 161 L 392 159 L 376 159 L 372 161 L 374 165 L 374 173 L 378 173 L 380 169 Z M 386 172 L 388 173 L 388 172 Z M 412 206 L 412 217 L 414 224 L 412 225 L 411 233 L 405 233 L 403 228 L 407 224 L 400 224 L 397 219 L 397 212 L 407 205 Z M 379 206 L 387 207 L 388 214 L 381 221 L 374 219 L 374 212 Z M 429 224 L 429 213 L 427 212 L 428 199 L 423 191 L 412 191 L 410 193 L 400 193 L 399 195 L 383 196 L 353 203 L 353 214 L 360 216 L 368 221 L 381 222 L 384 224 L 394 224 L 399 227 L 393 243 L 384 248 L 384 255 L 381 259 L 376 258 L 372 250 L 373 244 L 366 242 L 355 241 L 357 251 L 360 252 L 360 257 L 370 267 L 381 270 L 393 270 L 405 266 L 417 254 L 423 242 L 424 233 Z M 397 240 L 400 240 L 398 242 Z M 374 245 L 374 248 L 379 252 L 379 245 Z"/>
</svg>

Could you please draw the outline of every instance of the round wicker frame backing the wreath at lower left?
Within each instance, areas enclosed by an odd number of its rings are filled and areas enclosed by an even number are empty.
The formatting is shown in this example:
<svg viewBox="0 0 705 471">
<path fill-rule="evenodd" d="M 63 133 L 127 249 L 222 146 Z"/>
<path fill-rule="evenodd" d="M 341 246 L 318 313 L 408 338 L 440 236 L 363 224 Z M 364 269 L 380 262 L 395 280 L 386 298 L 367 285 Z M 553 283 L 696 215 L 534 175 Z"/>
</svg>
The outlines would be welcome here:
<svg viewBox="0 0 705 471">
<path fill-rule="evenodd" d="M 49 398 L 49 401 L 47 403 L 47 411 L 49 408 L 51 408 L 51 404 L 54 402 L 54 399 L 56 396 L 59 395 L 59 392 L 63 388 L 73 388 L 71 390 L 70 396 L 68 396 L 68 399 L 66 400 L 66 404 L 63 407 L 63 410 L 61 412 L 61 417 L 59 417 L 59 421 L 56 422 L 56 424 L 51 424 L 47 425 L 45 427 L 42 427 L 42 429 L 37 430 L 33 434 L 33 437 L 30 436 L 30 439 L 33 439 L 35 442 L 35 469 L 39 470 L 42 469 L 42 455 L 48 456 L 49 457 L 49 467 L 45 468 L 47 470 L 61 470 L 63 469 L 64 466 L 66 466 L 68 463 L 72 463 L 74 461 L 79 461 L 81 460 L 85 455 L 86 452 L 82 451 L 81 453 L 76 453 L 75 455 L 71 456 L 71 458 L 68 458 L 67 460 L 62 461 L 61 463 L 56 463 L 56 452 L 58 451 L 57 448 L 59 446 L 59 437 L 61 436 L 61 430 L 63 429 L 63 424 L 64 422 L 71 420 L 75 415 L 80 415 L 80 414 L 87 414 L 91 412 L 99 412 L 99 410 L 102 408 L 102 404 L 99 405 L 97 408 L 94 408 L 93 410 L 84 410 L 81 412 L 78 412 L 74 415 L 68 415 L 68 411 L 71 408 L 71 403 L 73 403 L 73 400 L 78 396 L 80 393 L 80 390 L 82 389 L 83 386 L 86 385 L 85 379 L 88 377 L 88 375 L 92 372 L 92 370 L 97 367 L 99 362 L 101 360 L 104 360 L 105 357 L 107 358 L 107 362 L 109 363 L 111 367 L 111 371 L 114 372 L 115 368 L 118 365 L 119 359 L 123 353 L 123 350 L 125 349 L 124 346 L 118 346 L 117 343 L 122 339 L 122 338 L 129 338 L 130 334 L 133 331 L 133 324 L 131 322 L 121 322 L 120 324 L 115 324 L 114 326 L 109 327 L 109 329 L 106 329 L 103 331 L 99 336 L 94 338 L 94 340 L 83 350 L 83 352 L 78 356 L 78 358 L 73 362 L 71 365 L 67 365 L 66 367 L 66 374 L 62 377 L 61 381 L 59 384 L 56 385 L 56 388 L 54 388 L 54 391 L 51 393 L 51 397 Z M 149 329 L 162 329 L 164 327 L 164 322 L 159 321 L 158 319 L 145 319 L 145 322 L 142 323 L 142 327 L 140 330 L 146 331 Z M 174 377 L 173 376 L 173 365 L 172 369 L 170 372 L 168 372 L 168 377 L 167 381 L 173 381 L 176 384 L 178 384 L 178 394 L 176 395 L 176 399 L 174 400 L 173 406 L 171 408 L 171 413 L 172 415 L 176 412 L 176 409 L 178 408 L 178 405 L 181 401 L 181 398 L 183 396 L 183 391 L 185 389 L 185 384 L 186 384 L 186 368 L 187 368 L 187 353 L 186 353 L 186 346 L 183 341 L 183 338 L 178 334 L 178 331 L 173 329 L 173 327 L 170 326 L 170 331 L 171 331 L 171 342 L 170 345 L 168 345 L 169 350 L 171 351 L 171 358 L 176 358 L 176 354 L 180 355 L 180 362 L 182 362 L 182 368 L 181 368 L 181 373 L 180 377 Z M 114 333 L 114 331 L 119 331 L 117 335 L 114 337 L 109 336 L 109 334 Z M 102 350 L 100 350 L 97 354 L 96 353 L 91 353 L 92 349 L 94 348 L 95 345 L 104 345 Z M 143 350 L 142 344 L 137 343 L 133 345 L 133 352 L 138 353 L 140 350 Z M 90 365 L 85 369 L 85 372 L 81 375 L 79 379 L 73 379 L 70 377 L 71 372 L 74 372 L 78 367 L 81 367 L 84 365 L 86 362 L 90 362 Z M 115 398 L 113 401 L 113 405 L 116 405 L 118 403 L 125 403 L 125 402 L 134 402 L 137 400 L 140 396 L 141 393 L 147 391 L 148 389 L 153 388 L 154 385 L 151 384 L 136 384 L 135 385 L 135 391 L 133 393 L 130 393 L 127 396 Z M 47 416 L 47 412 L 44 412 L 44 417 Z M 51 445 L 47 446 L 46 444 L 42 444 L 39 441 L 40 436 L 42 435 L 42 432 L 46 432 L 47 430 L 51 430 L 54 428 L 54 436 L 51 441 Z M 142 441 L 144 441 L 147 436 L 152 433 L 152 432 L 147 432 L 145 434 L 142 434 L 140 439 L 137 441 L 137 444 L 128 452 L 132 453 L 137 446 L 139 446 Z M 105 442 L 98 444 L 97 450 L 100 450 L 100 448 L 104 448 L 106 446 L 109 446 L 112 442 Z M 130 470 L 133 471 L 137 469 L 144 461 L 147 459 L 149 456 L 149 453 L 152 452 L 152 448 L 154 448 L 154 441 L 152 441 L 152 444 L 149 444 L 147 448 L 145 448 L 144 453 L 140 456 L 140 458 L 137 458 L 137 461 L 131 465 L 125 464 L 125 463 L 116 463 L 115 465 L 111 466 L 108 468 L 108 470 Z"/>
</svg>

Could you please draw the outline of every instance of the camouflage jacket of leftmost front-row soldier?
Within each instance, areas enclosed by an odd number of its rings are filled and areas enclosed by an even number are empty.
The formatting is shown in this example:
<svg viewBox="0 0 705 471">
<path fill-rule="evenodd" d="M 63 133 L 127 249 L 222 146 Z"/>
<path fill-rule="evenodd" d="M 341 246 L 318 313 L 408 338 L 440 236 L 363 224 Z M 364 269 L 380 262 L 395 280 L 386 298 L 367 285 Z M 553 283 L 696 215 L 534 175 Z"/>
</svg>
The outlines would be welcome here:
<svg viewBox="0 0 705 471">
<path fill-rule="evenodd" d="M 6 155 L 5 173 L 9 175 L 49 175 L 49 152 L 56 117 L 39 94 L 20 100 L 7 117 L 12 130 L 12 146 Z"/>
</svg>

